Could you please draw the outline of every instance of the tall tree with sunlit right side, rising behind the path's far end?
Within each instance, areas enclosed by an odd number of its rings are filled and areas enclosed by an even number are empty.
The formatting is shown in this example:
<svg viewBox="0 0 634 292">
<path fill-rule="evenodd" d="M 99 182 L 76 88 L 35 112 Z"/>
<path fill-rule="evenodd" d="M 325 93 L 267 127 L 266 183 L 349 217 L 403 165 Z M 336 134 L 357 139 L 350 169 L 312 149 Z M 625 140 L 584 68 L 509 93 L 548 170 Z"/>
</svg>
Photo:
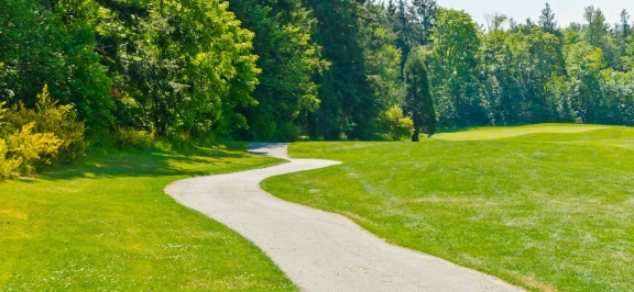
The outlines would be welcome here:
<svg viewBox="0 0 634 292">
<path fill-rule="evenodd" d="M 258 105 L 240 109 L 249 123 L 242 136 L 256 141 L 293 141 L 306 114 L 319 108 L 311 79 L 327 68 L 321 47 L 310 40 L 311 13 L 297 0 L 231 0 L 230 10 L 252 31 L 253 54 L 262 69 L 253 91 Z M 299 120 L 299 121 L 298 121 Z"/>
</svg>

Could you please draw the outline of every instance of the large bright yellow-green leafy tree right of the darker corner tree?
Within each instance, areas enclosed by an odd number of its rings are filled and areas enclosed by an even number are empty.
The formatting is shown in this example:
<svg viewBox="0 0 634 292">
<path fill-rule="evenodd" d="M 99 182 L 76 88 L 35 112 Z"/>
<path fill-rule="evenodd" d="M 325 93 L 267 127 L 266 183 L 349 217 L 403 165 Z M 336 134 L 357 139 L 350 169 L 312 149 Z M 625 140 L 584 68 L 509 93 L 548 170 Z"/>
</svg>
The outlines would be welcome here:
<svg viewBox="0 0 634 292">
<path fill-rule="evenodd" d="M 247 127 L 237 109 L 256 103 L 253 33 L 227 7 L 216 0 L 58 0 L 53 10 L 67 26 L 83 20 L 98 32 L 96 52 L 112 80 L 108 96 L 119 126 L 210 138 Z"/>
</svg>

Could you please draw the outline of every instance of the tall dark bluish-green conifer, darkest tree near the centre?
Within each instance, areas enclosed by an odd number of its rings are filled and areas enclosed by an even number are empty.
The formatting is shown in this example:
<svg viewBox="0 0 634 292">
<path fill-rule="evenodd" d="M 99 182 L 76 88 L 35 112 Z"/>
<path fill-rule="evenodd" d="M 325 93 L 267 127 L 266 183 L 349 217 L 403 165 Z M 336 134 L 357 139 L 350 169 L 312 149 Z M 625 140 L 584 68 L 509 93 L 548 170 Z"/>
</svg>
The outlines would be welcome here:
<svg viewBox="0 0 634 292">
<path fill-rule="evenodd" d="M 317 19 L 316 42 L 331 65 L 321 76 L 319 110 L 307 117 L 313 137 L 339 139 L 370 137 L 381 112 L 374 102 L 367 76 L 364 21 L 371 20 L 360 2 L 352 0 L 308 0 Z"/>
</svg>

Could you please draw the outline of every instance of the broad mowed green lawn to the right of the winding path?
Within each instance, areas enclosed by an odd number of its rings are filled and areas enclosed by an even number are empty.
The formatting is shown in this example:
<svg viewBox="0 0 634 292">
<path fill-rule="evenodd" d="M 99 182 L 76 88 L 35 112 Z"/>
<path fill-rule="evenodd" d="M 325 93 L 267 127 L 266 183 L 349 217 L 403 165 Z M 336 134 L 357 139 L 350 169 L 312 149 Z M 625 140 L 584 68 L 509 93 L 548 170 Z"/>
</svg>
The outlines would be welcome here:
<svg viewBox="0 0 634 292">
<path fill-rule="evenodd" d="M 291 155 L 343 165 L 264 189 L 390 243 L 534 291 L 634 291 L 632 128 L 482 128 L 419 144 L 298 143 Z"/>
</svg>

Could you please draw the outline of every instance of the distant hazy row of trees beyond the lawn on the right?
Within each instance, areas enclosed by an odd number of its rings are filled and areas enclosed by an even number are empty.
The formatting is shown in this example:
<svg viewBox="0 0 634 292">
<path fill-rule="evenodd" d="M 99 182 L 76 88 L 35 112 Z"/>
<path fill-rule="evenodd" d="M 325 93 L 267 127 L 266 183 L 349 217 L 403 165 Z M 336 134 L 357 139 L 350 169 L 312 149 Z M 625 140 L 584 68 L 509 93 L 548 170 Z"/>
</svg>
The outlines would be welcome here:
<svg viewBox="0 0 634 292">
<path fill-rule="evenodd" d="M 433 1 L 430 1 L 433 2 Z M 416 2 L 414 2 L 415 4 Z M 546 3 L 534 22 L 502 14 L 485 26 L 462 11 L 438 9 L 430 41 L 415 9 L 393 12 L 403 52 L 422 46 L 439 126 L 545 122 L 633 125 L 634 38 L 627 11 L 610 25 L 600 9 L 560 27 Z"/>
</svg>

